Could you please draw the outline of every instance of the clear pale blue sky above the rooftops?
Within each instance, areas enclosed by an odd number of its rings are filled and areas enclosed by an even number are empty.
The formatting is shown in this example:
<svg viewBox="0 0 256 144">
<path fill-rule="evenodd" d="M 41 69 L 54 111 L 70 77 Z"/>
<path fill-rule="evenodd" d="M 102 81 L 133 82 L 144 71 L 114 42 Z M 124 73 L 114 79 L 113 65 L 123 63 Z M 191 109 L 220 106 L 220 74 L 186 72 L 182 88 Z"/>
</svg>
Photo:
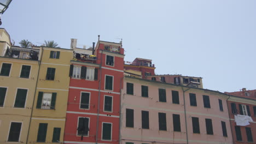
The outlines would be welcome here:
<svg viewBox="0 0 256 144">
<path fill-rule="evenodd" d="M 2 22 L 16 45 L 123 38 L 125 61 L 152 59 L 156 74 L 203 77 L 220 92 L 256 89 L 255 0 L 13 0 Z"/>
</svg>

